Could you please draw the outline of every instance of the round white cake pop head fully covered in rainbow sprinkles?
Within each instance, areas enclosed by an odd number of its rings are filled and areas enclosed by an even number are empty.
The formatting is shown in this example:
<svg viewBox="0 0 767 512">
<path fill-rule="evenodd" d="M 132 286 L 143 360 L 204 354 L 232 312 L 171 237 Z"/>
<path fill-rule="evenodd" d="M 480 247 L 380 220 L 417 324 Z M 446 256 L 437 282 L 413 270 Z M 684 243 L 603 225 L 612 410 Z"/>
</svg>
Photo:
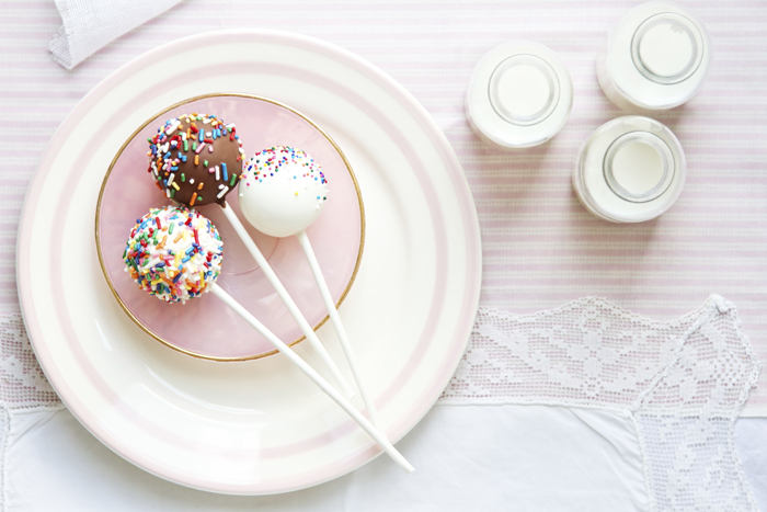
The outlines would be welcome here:
<svg viewBox="0 0 767 512">
<path fill-rule="evenodd" d="M 123 260 L 145 292 L 168 303 L 185 303 L 207 292 L 221 272 L 221 237 L 194 209 L 164 206 L 136 221 Z"/>
</svg>

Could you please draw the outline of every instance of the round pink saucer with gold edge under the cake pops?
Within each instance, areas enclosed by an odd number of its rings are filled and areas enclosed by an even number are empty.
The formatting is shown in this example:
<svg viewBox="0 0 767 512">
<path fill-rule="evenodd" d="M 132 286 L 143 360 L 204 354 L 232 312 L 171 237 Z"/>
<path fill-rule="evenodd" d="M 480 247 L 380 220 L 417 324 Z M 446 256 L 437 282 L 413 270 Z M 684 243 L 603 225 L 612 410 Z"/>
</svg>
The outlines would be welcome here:
<svg viewBox="0 0 767 512">
<path fill-rule="evenodd" d="M 308 118 L 271 100 L 233 94 L 198 96 L 159 113 L 126 143 L 104 178 L 96 207 L 96 248 L 104 276 L 125 311 L 154 339 L 190 355 L 217 361 L 271 355 L 275 353 L 271 343 L 211 294 L 185 305 L 165 304 L 142 292 L 124 271 L 121 257 L 136 219 L 170 203 L 147 173 L 147 138 L 165 120 L 191 112 L 234 123 L 249 158 L 264 148 L 293 146 L 320 163 L 330 195 L 307 234 L 337 303 L 352 286 L 363 254 L 365 221 L 356 179 L 341 150 Z M 238 192 L 231 192 L 227 201 L 309 323 L 321 326 L 328 312 L 296 237 L 277 239 L 256 231 L 240 214 Z M 213 220 L 224 239 L 224 271 L 218 284 L 281 340 L 290 344 L 300 341 L 296 321 L 220 207 L 208 205 L 198 211 Z"/>
</svg>

